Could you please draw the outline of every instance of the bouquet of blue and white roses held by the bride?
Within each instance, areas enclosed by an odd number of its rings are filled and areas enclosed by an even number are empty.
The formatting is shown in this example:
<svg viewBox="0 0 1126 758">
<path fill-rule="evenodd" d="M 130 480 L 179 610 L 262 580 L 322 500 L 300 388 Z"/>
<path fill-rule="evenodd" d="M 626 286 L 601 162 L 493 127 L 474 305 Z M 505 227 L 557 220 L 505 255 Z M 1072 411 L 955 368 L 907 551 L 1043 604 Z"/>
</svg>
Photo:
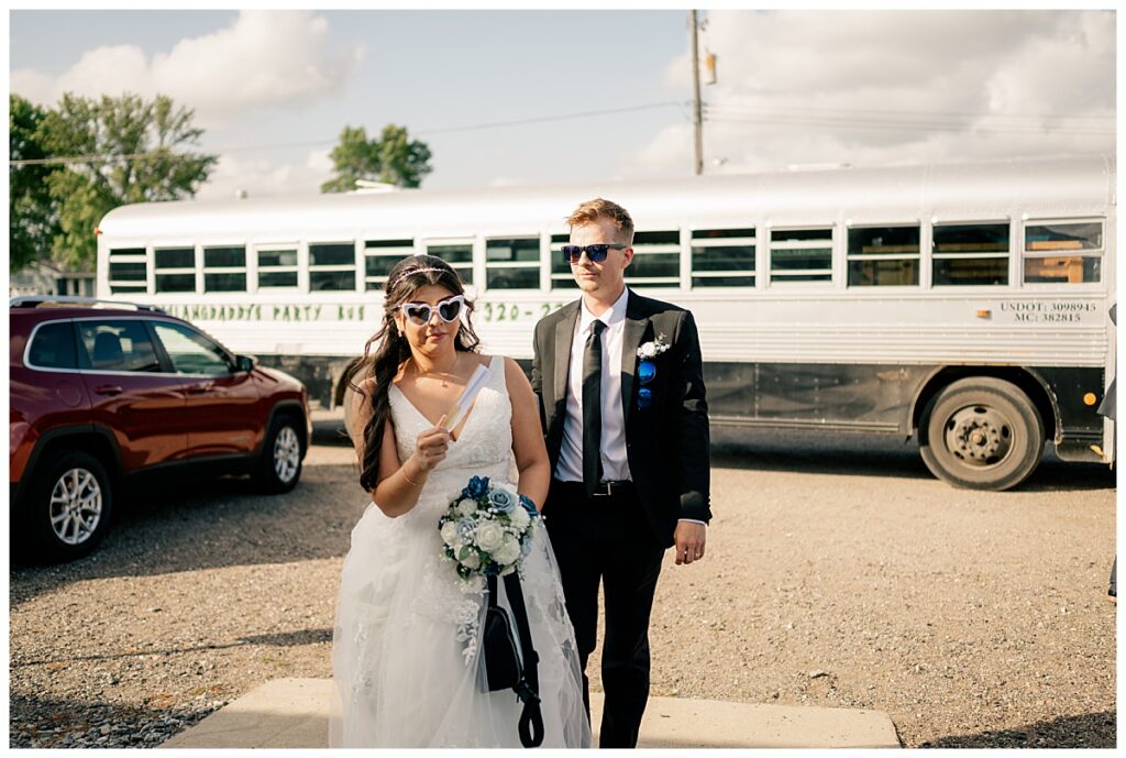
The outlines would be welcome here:
<svg viewBox="0 0 1126 758">
<path fill-rule="evenodd" d="M 535 503 L 511 484 L 474 476 L 438 520 L 443 552 L 462 579 L 506 577 L 528 554 L 538 517 Z"/>
</svg>

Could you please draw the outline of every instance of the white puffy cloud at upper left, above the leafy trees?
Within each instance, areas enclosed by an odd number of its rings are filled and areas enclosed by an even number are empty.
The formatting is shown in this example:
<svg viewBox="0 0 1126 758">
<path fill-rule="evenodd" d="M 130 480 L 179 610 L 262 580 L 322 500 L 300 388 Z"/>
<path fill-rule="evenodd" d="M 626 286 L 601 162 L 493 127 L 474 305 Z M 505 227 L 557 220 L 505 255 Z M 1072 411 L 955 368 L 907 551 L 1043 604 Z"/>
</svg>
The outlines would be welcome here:
<svg viewBox="0 0 1126 758">
<path fill-rule="evenodd" d="M 98 47 L 57 77 L 20 70 L 10 83 L 11 91 L 44 105 L 64 92 L 159 92 L 195 109 L 197 123 L 207 127 L 340 91 L 363 55 L 359 46 L 330 47 L 328 21 L 312 11 L 243 10 L 230 27 L 182 39 L 168 53 L 148 57 L 134 45 Z"/>
</svg>

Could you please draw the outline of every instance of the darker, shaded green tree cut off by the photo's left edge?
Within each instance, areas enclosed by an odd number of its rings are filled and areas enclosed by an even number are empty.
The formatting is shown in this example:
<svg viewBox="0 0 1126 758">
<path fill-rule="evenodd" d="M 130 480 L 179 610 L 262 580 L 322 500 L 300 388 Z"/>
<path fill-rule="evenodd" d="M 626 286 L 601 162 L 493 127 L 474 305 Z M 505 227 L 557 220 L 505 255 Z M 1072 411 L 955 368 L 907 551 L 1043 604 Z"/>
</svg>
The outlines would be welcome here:
<svg viewBox="0 0 1126 758">
<path fill-rule="evenodd" d="M 18 95 L 8 96 L 8 157 L 12 161 L 46 158 L 38 134 L 46 112 Z M 8 167 L 8 268 L 16 273 L 51 255 L 59 233 L 59 209 L 47 177 L 59 169 L 42 163 Z"/>
</svg>

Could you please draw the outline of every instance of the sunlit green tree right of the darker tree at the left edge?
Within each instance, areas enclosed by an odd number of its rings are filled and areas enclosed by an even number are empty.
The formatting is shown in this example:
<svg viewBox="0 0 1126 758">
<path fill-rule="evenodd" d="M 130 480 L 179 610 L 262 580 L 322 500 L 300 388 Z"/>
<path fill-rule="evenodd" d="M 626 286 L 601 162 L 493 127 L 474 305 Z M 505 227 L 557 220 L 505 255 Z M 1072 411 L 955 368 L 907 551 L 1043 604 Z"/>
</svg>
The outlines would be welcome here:
<svg viewBox="0 0 1126 758">
<path fill-rule="evenodd" d="M 98 249 L 95 229 L 118 205 L 196 194 L 218 158 L 191 152 L 203 135 L 191 116 L 163 95 L 151 101 L 136 95 L 63 96 L 42 123 L 42 142 L 53 155 L 82 160 L 47 178 L 59 206 L 55 260 L 90 266 Z"/>
</svg>

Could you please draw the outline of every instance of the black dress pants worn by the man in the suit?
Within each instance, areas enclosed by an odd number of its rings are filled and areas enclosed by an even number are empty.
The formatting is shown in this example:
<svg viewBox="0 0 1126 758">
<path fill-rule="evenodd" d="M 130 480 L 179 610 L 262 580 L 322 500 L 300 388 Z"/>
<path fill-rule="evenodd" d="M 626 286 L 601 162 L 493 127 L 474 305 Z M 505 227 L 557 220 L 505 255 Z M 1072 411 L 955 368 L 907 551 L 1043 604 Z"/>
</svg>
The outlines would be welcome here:
<svg viewBox="0 0 1126 758">
<path fill-rule="evenodd" d="M 649 699 L 649 617 L 664 547 L 653 535 L 633 488 L 587 497 L 581 482 L 553 481 L 544 503 L 544 524 L 579 645 L 588 714 L 587 659 L 598 637 L 600 583 L 605 592 L 599 747 L 636 747 Z"/>
</svg>

